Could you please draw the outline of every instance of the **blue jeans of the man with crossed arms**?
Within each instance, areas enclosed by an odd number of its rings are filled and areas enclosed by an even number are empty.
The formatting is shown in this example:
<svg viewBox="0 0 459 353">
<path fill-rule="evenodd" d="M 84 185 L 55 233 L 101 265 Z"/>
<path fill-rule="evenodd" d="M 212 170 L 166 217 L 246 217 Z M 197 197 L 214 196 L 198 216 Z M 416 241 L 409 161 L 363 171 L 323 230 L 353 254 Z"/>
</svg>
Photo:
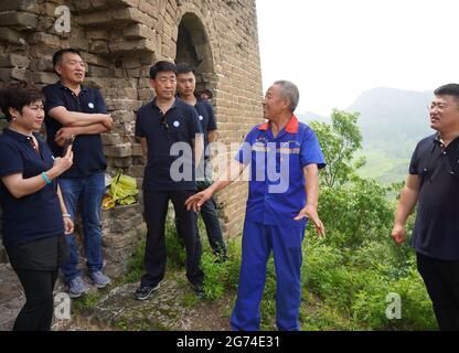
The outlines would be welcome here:
<svg viewBox="0 0 459 353">
<path fill-rule="evenodd" d="M 58 184 L 72 221 L 75 222 L 77 206 L 79 205 L 81 207 L 84 233 L 83 244 L 88 272 L 102 270 L 104 259 L 102 254 L 100 210 L 105 193 L 105 173 L 104 171 L 97 171 L 79 179 L 60 178 Z M 68 284 L 72 279 L 82 276 L 82 271 L 77 267 L 79 254 L 75 235 L 67 235 L 65 239 L 68 244 L 70 258 L 63 264 L 61 270 L 65 282 Z"/>
</svg>

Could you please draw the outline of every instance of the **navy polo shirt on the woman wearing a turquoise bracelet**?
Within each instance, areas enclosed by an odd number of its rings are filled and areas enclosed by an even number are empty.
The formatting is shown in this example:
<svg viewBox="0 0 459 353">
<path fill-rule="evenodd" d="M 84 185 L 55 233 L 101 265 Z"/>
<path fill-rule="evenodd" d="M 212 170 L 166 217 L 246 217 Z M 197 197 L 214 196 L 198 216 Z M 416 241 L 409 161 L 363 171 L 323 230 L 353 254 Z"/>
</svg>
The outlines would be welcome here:
<svg viewBox="0 0 459 353">
<path fill-rule="evenodd" d="M 0 135 L 0 178 L 21 173 L 28 179 L 53 167 L 50 148 L 38 135 L 35 137 L 40 154 L 33 149 L 30 138 L 10 129 L 3 130 Z M 56 188 L 54 180 L 31 195 L 15 199 L 0 182 L 3 244 L 7 247 L 64 234 Z"/>
</svg>

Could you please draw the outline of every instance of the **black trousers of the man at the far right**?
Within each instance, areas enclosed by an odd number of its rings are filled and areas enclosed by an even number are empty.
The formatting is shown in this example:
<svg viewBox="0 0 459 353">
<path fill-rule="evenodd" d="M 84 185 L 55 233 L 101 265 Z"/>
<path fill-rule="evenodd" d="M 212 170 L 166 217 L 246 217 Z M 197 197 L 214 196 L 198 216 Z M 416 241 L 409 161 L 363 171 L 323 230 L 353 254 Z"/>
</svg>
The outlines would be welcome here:
<svg viewBox="0 0 459 353">
<path fill-rule="evenodd" d="M 417 269 L 426 284 L 441 331 L 459 331 L 459 261 L 417 253 Z"/>
</svg>

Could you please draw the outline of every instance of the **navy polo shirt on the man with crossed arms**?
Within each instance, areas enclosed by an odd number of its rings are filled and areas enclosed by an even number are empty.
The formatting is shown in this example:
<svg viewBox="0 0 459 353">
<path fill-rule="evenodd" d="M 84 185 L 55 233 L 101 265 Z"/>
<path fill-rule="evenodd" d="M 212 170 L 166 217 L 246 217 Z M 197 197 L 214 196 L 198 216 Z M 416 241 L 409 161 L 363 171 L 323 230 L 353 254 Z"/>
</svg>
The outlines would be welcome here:
<svg viewBox="0 0 459 353">
<path fill-rule="evenodd" d="M 43 87 L 46 97 L 44 109 L 47 143 L 54 156 L 61 157 L 64 149 L 54 142 L 55 135 L 63 127 L 47 113 L 55 107 L 65 107 L 70 111 L 86 114 L 107 114 L 107 107 L 99 89 L 82 86 L 76 96 L 72 89 L 61 83 Z M 93 172 L 105 170 L 107 160 L 104 156 L 100 135 L 79 135 L 73 143 L 73 165 L 61 178 L 86 178 Z"/>
</svg>

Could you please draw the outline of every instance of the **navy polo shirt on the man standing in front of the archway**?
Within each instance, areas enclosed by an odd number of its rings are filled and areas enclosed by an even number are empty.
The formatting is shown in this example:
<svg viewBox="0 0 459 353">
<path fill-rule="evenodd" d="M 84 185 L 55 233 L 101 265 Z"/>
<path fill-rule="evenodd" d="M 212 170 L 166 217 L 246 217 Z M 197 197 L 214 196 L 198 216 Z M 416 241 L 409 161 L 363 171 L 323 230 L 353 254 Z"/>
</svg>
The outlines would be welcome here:
<svg viewBox="0 0 459 353">
<path fill-rule="evenodd" d="M 166 116 L 156 100 L 141 107 L 137 113 L 136 136 L 147 138 L 148 161 L 142 189 L 146 191 L 196 190 L 194 182 L 193 153 L 172 156 L 171 148 L 182 142 L 189 152 L 193 151 L 192 139 L 202 133 L 196 110 L 189 104 L 175 99 Z M 180 149 L 180 148 L 179 148 Z M 180 160 L 179 160 L 180 159 Z M 185 180 L 172 179 L 172 170 L 183 161 L 180 172 Z M 174 163 L 177 162 L 177 163 Z"/>
</svg>

